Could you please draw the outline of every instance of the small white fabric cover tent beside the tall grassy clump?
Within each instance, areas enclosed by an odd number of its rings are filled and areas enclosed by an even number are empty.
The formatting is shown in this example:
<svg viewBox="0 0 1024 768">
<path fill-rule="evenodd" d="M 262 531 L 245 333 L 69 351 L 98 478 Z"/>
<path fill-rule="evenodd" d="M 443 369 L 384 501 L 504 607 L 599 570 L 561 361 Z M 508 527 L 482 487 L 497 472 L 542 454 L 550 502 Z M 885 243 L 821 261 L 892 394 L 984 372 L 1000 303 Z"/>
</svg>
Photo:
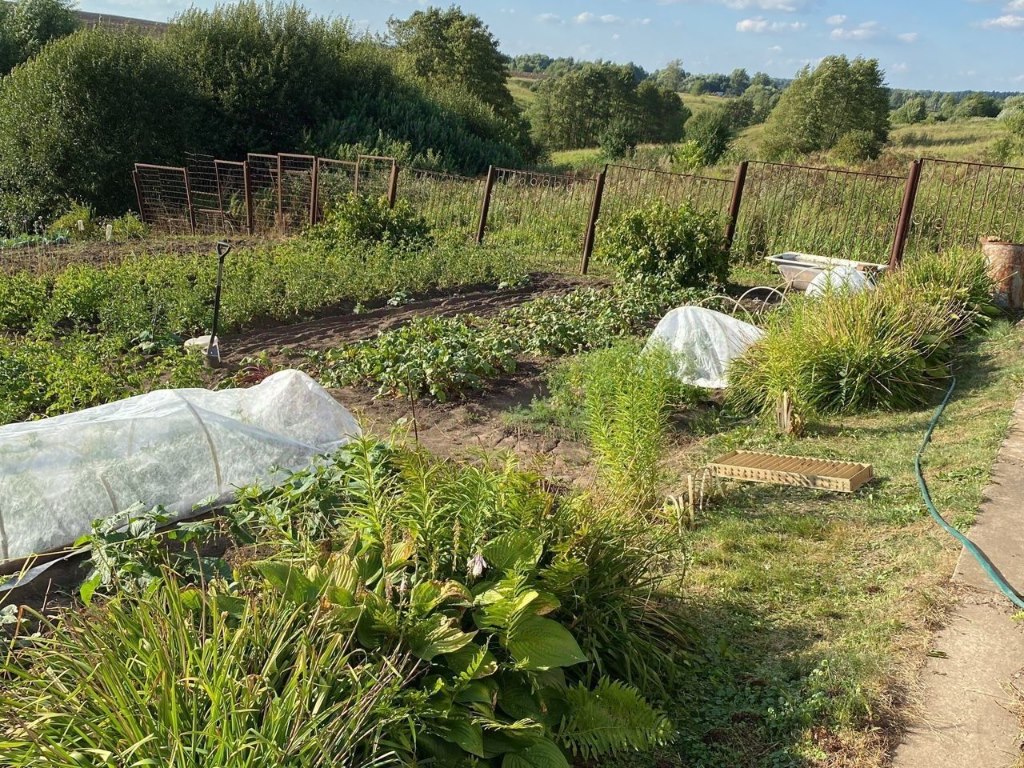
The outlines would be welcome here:
<svg viewBox="0 0 1024 768">
<path fill-rule="evenodd" d="M 728 314 L 699 306 L 682 306 L 662 318 L 647 348 L 667 346 L 677 359 L 680 381 L 696 387 L 724 389 L 729 364 L 760 340 L 764 332 Z"/>
</svg>

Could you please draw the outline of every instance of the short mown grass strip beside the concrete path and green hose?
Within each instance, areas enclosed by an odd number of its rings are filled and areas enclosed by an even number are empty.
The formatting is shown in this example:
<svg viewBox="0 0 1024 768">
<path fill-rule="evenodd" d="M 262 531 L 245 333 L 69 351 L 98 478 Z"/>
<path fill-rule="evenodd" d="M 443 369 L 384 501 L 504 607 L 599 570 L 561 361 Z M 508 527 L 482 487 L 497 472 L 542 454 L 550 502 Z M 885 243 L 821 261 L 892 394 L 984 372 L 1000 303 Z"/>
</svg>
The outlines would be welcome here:
<svg viewBox="0 0 1024 768">
<path fill-rule="evenodd" d="M 961 366 L 925 468 L 947 519 L 968 522 L 981 502 L 1024 382 L 1022 341 L 999 323 Z M 878 479 L 852 496 L 734 484 L 698 517 L 686 584 L 702 660 L 658 765 L 884 764 L 957 552 L 912 475 L 931 413 L 836 421 L 800 440 L 743 425 L 698 444 L 694 468 L 744 447 L 869 462 Z"/>
</svg>

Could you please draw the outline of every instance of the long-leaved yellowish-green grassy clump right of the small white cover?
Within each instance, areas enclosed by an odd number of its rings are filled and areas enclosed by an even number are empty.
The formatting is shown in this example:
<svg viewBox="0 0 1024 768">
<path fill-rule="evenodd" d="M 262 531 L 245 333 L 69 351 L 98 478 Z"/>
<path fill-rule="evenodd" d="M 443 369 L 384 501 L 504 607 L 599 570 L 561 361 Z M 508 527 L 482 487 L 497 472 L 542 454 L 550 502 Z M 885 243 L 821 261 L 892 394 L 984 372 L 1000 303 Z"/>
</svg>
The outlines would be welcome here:
<svg viewBox="0 0 1024 768">
<path fill-rule="evenodd" d="M 805 417 L 925 406 L 990 311 L 988 286 L 977 256 L 924 256 L 876 291 L 791 301 L 734 364 L 730 398 L 769 417 L 783 391 Z"/>
</svg>

